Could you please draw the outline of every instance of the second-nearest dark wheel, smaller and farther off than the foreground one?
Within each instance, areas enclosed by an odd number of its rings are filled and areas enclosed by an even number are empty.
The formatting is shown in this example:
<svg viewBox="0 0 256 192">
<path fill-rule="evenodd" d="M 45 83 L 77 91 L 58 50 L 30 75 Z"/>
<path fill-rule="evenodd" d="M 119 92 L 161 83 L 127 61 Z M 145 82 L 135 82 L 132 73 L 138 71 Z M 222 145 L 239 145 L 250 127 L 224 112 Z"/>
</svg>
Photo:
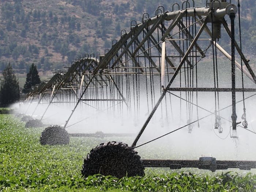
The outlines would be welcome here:
<svg viewBox="0 0 256 192">
<path fill-rule="evenodd" d="M 69 134 L 59 125 L 46 127 L 40 137 L 42 145 L 69 144 Z"/>
</svg>

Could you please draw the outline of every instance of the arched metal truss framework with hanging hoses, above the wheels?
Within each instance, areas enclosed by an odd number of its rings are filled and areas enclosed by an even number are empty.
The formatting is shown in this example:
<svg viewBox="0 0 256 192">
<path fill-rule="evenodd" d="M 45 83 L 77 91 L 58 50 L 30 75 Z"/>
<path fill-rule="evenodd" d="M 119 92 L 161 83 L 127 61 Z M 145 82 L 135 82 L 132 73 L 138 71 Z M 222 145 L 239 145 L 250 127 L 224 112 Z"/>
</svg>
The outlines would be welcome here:
<svg viewBox="0 0 256 192">
<path fill-rule="evenodd" d="M 174 10 L 175 6 L 178 6 L 178 10 Z M 173 4 L 172 11 L 165 11 L 162 6 L 159 6 L 154 17 L 150 18 L 147 13 L 144 13 L 141 23 L 131 21 L 130 31 L 122 30 L 120 39 L 114 39 L 112 47 L 106 49 L 103 56 L 94 57 L 93 53 L 81 55 L 75 59 L 67 72 L 56 72 L 49 82 L 42 83 L 34 89 L 27 100 L 32 102 L 33 98 L 39 97 L 38 104 L 48 102 L 46 110 L 54 102 L 74 103 L 74 109 L 65 122 L 64 128 L 67 127 L 78 105 L 83 103 L 90 103 L 90 106 L 95 108 L 105 103 L 106 108 L 111 106 L 113 110 L 117 109 L 120 112 L 127 110 L 136 116 L 141 108 L 140 101 L 144 100 L 147 103 L 148 112 L 151 110 L 151 113 L 132 144 L 135 148 L 163 98 L 165 98 L 165 105 L 161 104 L 161 108 L 170 108 L 171 99 L 166 96 L 166 93 L 183 92 L 189 105 L 198 106 L 197 94 L 200 91 L 215 93 L 215 102 L 219 92 L 229 91 L 234 96 L 232 123 L 235 129 L 237 125 L 235 94 L 237 91 L 255 92 L 255 89 L 236 88 L 233 81 L 231 88 L 218 87 L 217 49 L 231 60 L 232 75 L 235 75 L 233 69 L 236 66 L 253 83 L 256 83 L 256 76 L 249 61 L 234 39 L 232 26 L 230 30 L 224 18 L 225 15 L 229 15 L 232 25 L 236 9 L 236 6 L 230 2 L 219 0 L 209 3 L 207 1 L 206 7 L 195 7 L 194 3 L 193 7 L 190 7 L 187 0 L 182 3 L 182 9 L 177 3 Z M 221 39 L 221 26 L 231 38 L 230 44 L 233 47 L 231 54 L 217 43 Z M 212 54 L 207 55 L 207 50 L 211 46 Z M 244 67 L 242 63 L 235 60 L 235 48 L 245 64 Z M 206 88 L 200 87 L 197 82 L 197 64 L 207 56 L 214 58 L 209 65 L 214 68 L 214 83 L 212 82 L 212 87 Z M 181 80 L 181 74 L 183 80 Z M 215 79 L 217 79 L 217 85 Z M 174 83 L 175 81 L 178 83 Z M 141 90 L 146 91 L 146 98 L 142 98 Z M 196 104 L 192 102 L 193 95 L 196 95 Z M 156 98 L 159 98 L 158 101 Z M 191 107 L 188 106 L 188 110 L 189 122 L 186 126 L 189 127 L 194 122 L 190 117 Z M 218 123 L 217 112 L 215 103 L 215 112 L 211 113 L 215 114 L 216 124 Z"/>
</svg>

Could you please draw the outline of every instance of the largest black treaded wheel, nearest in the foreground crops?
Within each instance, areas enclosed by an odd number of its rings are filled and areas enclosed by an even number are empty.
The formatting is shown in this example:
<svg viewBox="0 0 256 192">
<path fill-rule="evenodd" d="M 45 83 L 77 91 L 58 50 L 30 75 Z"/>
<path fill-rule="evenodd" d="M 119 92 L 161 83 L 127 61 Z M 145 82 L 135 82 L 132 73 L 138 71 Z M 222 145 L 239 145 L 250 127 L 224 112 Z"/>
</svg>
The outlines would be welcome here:
<svg viewBox="0 0 256 192">
<path fill-rule="evenodd" d="M 144 166 L 138 152 L 122 142 L 102 143 L 93 148 L 84 159 L 82 175 L 144 176 Z"/>
</svg>

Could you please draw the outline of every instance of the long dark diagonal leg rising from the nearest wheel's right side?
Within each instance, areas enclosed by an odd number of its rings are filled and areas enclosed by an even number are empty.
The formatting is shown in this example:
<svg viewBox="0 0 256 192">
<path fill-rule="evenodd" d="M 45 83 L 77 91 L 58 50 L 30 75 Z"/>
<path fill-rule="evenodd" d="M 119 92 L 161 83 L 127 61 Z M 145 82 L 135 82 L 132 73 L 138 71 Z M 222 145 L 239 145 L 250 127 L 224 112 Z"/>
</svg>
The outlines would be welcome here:
<svg viewBox="0 0 256 192">
<path fill-rule="evenodd" d="M 195 38 L 193 39 L 191 45 L 189 46 L 187 52 L 184 54 L 180 64 L 178 65 L 176 71 L 174 72 L 172 78 L 170 79 L 169 83 L 167 84 L 166 88 L 163 89 L 163 93 L 161 95 L 161 97 L 159 98 L 159 100 L 157 101 L 155 107 L 153 108 L 153 110 L 151 111 L 150 115 L 148 116 L 146 122 L 144 123 L 143 127 L 140 129 L 139 134 L 137 135 L 137 137 L 135 138 L 134 142 L 132 143 L 132 148 L 136 147 L 136 144 L 140 138 L 140 136 L 142 135 L 142 133 L 144 132 L 145 128 L 147 127 L 149 121 L 151 120 L 151 118 L 153 117 L 155 111 L 157 110 L 158 106 L 160 105 L 163 97 L 165 97 L 165 94 L 167 93 L 167 90 L 169 89 L 169 87 L 171 86 L 171 84 L 173 83 L 174 79 L 176 78 L 176 76 L 178 75 L 178 73 L 180 72 L 180 69 L 182 67 L 182 65 L 184 64 L 188 54 L 190 53 L 191 49 L 193 48 L 193 46 L 196 44 L 197 39 L 199 38 L 200 34 L 202 33 L 204 27 L 207 24 L 207 20 L 204 20 L 203 25 L 200 27 L 199 31 L 197 32 Z"/>
</svg>

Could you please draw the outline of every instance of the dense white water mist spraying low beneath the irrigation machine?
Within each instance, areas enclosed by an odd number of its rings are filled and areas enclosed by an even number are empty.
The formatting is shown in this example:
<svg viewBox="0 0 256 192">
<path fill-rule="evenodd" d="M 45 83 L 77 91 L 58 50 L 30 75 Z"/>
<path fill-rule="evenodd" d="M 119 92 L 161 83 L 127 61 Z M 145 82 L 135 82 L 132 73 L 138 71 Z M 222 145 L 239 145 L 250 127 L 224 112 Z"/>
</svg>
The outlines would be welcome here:
<svg viewBox="0 0 256 192">
<path fill-rule="evenodd" d="M 226 86 L 225 86 L 226 87 Z M 179 95 L 179 92 L 174 92 Z M 86 105 L 80 103 L 71 117 L 67 131 L 69 133 L 95 133 L 102 131 L 104 133 L 133 133 L 132 137 L 124 138 L 103 138 L 102 141 L 117 140 L 128 143 L 130 146 L 142 128 L 149 113 L 152 110 L 151 104 L 147 109 L 146 94 L 141 90 L 141 98 L 139 103 L 139 110 L 133 109 L 133 100 L 131 100 L 131 108 L 127 110 L 124 105 L 120 110 L 114 107 L 114 104 L 88 102 Z M 219 93 L 220 95 L 220 108 L 226 107 L 231 104 L 230 95 Z M 158 95 L 159 96 L 159 95 Z M 158 99 L 158 96 L 156 98 Z M 168 132 L 178 129 L 188 124 L 188 109 L 185 101 L 171 95 L 172 104 L 170 104 L 169 95 L 166 95 L 162 101 L 162 106 L 159 106 L 150 123 L 147 125 L 142 137 L 139 139 L 137 145 L 148 142 Z M 185 98 L 185 94 L 181 94 Z M 237 95 L 238 100 L 241 99 L 241 94 Z M 199 93 L 198 105 L 204 109 L 214 112 L 214 93 Z M 36 99 L 35 99 L 35 102 Z M 193 103 L 196 102 L 195 95 Z M 253 99 L 246 100 L 246 104 L 250 109 L 246 109 L 248 114 L 248 127 L 255 125 L 252 119 L 249 119 L 249 114 L 254 114 L 255 103 Z M 34 116 L 40 118 L 44 113 L 48 103 L 39 104 L 38 109 L 35 111 Z M 75 103 L 66 104 L 53 104 L 50 105 L 44 118 L 44 124 L 58 124 L 64 125 L 65 121 L 74 109 Z M 27 114 L 33 113 L 36 104 L 29 102 L 20 107 L 20 111 L 27 111 Z M 181 108 L 180 108 L 181 106 Z M 242 110 L 242 102 L 237 104 L 237 114 L 240 116 Z M 27 109 L 28 108 L 28 109 Z M 108 109 L 107 109 L 108 108 Z M 238 127 L 236 136 L 238 139 L 230 138 L 234 135 L 230 132 L 229 121 L 231 120 L 230 107 L 220 112 L 221 126 L 223 132 L 218 133 L 218 129 L 214 129 L 215 116 L 203 109 L 198 109 L 199 118 L 209 115 L 198 122 L 191 124 L 191 133 L 188 133 L 188 126 L 176 132 L 164 136 L 161 139 L 148 143 L 142 147 L 136 148 L 142 158 L 155 158 L 155 159 L 198 159 L 201 155 L 212 155 L 217 160 L 253 160 L 256 155 L 252 153 L 255 146 L 255 135 L 249 134 Z M 251 115 L 252 116 L 252 115 Z M 193 106 L 190 121 L 197 120 L 196 106 Z M 83 120 L 83 121 L 81 121 Z M 229 121 L 228 121 L 229 120 Z M 80 121 L 80 122 L 79 122 Z M 79 123 L 78 123 L 79 122 Z M 74 124 L 74 125 L 72 125 Z"/>
</svg>

